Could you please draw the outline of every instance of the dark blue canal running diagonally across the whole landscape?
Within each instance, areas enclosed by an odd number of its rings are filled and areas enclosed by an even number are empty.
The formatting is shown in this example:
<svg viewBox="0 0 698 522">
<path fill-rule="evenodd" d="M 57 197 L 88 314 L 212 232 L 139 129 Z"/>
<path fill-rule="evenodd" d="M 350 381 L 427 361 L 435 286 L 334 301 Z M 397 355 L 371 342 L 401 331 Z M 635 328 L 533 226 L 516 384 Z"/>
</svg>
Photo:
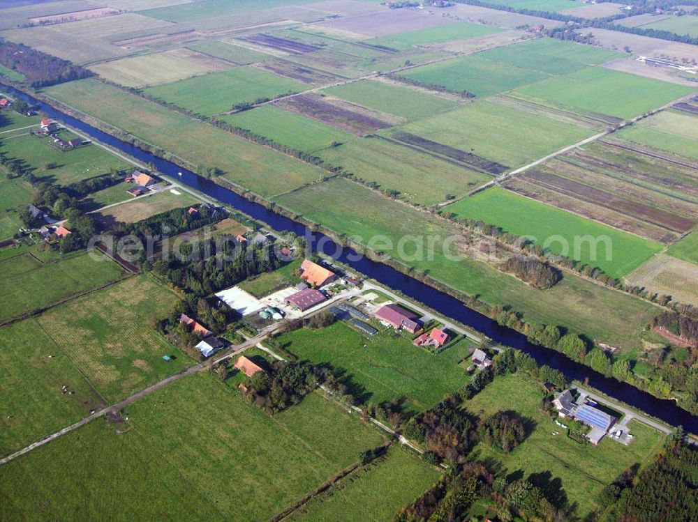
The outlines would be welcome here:
<svg viewBox="0 0 698 522">
<path fill-rule="evenodd" d="M 211 199 L 222 201 L 225 204 L 237 208 L 237 210 L 240 210 L 242 213 L 250 215 L 256 220 L 265 222 L 272 229 L 277 231 L 291 231 L 298 236 L 312 238 L 312 243 L 309 240 L 309 245 L 311 245 L 314 250 L 346 263 L 346 265 L 355 270 L 376 279 L 376 281 L 385 286 L 401 291 L 404 295 L 424 303 L 440 314 L 452 318 L 454 321 L 459 321 L 460 323 L 475 328 L 475 330 L 483 332 L 497 343 L 503 344 L 504 346 L 519 348 L 519 350 L 529 353 L 539 364 L 547 364 L 550 367 L 558 369 L 562 371 L 567 378 L 582 382 L 588 379 L 589 385 L 611 397 L 615 397 L 626 404 L 630 404 L 630 406 L 634 406 L 672 426 L 681 424 L 687 431 L 698 433 L 698 417 L 696 415 L 691 415 L 686 410 L 683 410 L 683 408 L 679 408 L 674 401 L 658 399 L 627 383 L 621 383 L 615 379 L 604 377 L 602 374 L 593 371 L 583 364 L 574 362 L 561 353 L 531 344 L 526 337 L 519 332 L 501 327 L 496 321 L 466 307 L 461 301 L 450 295 L 433 289 L 431 286 L 419 282 L 417 279 L 413 279 L 383 263 L 360 257 L 356 252 L 350 249 L 338 249 L 334 241 L 323 234 L 312 233 L 309 235 L 309 231 L 303 224 L 290 220 L 283 215 L 279 215 L 273 210 L 265 208 L 265 206 L 248 201 L 244 197 L 235 194 L 235 192 L 221 187 L 220 185 L 216 185 L 216 183 L 183 169 L 172 162 L 158 158 L 147 151 L 143 151 L 138 147 L 116 139 L 77 118 L 73 118 L 73 116 L 65 114 L 50 105 L 32 98 L 26 93 L 17 91 L 9 86 L 4 86 L 3 84 L 0 84 L 0 89 L 12 96 L 26 100 L 50 117 L 63 121 L 67 125 L 84 132 L 84 134 L 131 155 L 133 158 L 137 158 L 140 162 L 154 164 L 156 169 L 163 174 L 167 174 L 177 179 L 180 183 L 207 194 Z M 179 172 L 181 172 L 181 176 L 178 175 Z M 358 261 L 357 258 L 359 258 Z"/>
</svg>

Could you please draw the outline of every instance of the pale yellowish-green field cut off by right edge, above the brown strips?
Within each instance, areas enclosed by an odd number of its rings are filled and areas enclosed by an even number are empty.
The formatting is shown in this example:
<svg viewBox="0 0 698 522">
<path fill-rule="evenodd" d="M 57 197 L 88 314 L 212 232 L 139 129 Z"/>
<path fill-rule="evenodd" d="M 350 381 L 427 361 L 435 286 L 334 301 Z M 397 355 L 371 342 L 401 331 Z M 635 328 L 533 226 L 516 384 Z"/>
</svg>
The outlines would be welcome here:
<svg viewBox="0 0 698 522">
<path fill-rule="evenodd" d="M 698 160 L 697 129 L 697 116 L 662 111 L 622 129 L 618 136 Z"/>
</svg>

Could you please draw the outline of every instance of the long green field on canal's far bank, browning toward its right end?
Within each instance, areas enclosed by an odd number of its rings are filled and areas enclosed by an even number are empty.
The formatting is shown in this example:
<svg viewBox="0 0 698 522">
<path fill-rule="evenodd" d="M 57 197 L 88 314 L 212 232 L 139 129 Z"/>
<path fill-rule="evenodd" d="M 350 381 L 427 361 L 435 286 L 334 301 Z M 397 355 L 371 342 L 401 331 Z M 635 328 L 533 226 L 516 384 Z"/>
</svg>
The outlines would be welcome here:
<svg viewBox="0 0 698 522">
<path fill-rule="evenodd" d="M 403 236 L 435 237 L 433 260 L 425 259 L 430 249 L 424 248 L 424 254 L 419 255 L 416 245 L 406 245 L 405 255 L 417 258 L 411 261 L 408 257 L 406 264 L 424 270 L 454 289 L 480 295 L 491 305 L 511 305 L 528 321 L 562 325 L 573 332 L 584 332 L 592 339 L 630 349 L 641 344 L 641 330 L 656 313 L 653 305 L 573 275 L 551 289 L 540 291 L 483 261 L 461 255 L 450 260 L 442 253 L 443 245 L 438 238 L 454 233 L 457 238 L 457 229 L 343 179 L 318 183 L 274 201 L 308 220 L 348 237 L 354 236 L 357 243 L 371 245 L 373 250 L 386 252 L 394 259 L 404 257 L 395 250 Z M 357 206 L 356 201 L 362 204 Z M 451 256 L 459 254 L 458 245 L 456 241 L 448 250 Z"/>
</svg>

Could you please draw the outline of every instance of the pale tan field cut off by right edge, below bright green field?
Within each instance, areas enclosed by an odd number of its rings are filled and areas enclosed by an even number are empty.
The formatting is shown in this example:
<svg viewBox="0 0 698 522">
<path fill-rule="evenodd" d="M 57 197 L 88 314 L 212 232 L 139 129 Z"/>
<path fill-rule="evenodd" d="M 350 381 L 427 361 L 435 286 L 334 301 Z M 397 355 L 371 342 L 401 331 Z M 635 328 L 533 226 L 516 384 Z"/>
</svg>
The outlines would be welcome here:
<svg viewBox="0 0 698 522">
<path fill-rule="evenodd" d="M 632 272 L 628 283 L 698 307 L 698 266 L 689 261 L 659 254 Z"/>
</svg>

